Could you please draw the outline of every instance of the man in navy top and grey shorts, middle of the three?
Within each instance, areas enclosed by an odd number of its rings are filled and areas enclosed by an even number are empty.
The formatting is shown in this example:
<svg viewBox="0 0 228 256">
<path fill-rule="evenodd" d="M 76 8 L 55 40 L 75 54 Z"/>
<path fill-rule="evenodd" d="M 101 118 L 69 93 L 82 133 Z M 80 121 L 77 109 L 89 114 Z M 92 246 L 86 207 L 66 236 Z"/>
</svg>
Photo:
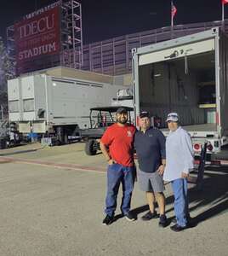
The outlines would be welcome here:
<svg viewBox="0 0 228 256">
<path fill-rule="evenodd" d="M 140 113 L 140 131 L 135 133 L 134 148 L 139 161 L 140 189 L 145 191 L 145 198 L 150 211 L 142 217 L 143 220 L 157 218 L 154 203 L 157 199 L 160 220 L 159 226 L 167 225 L 165 215 L 165 197 L 162 174 L 165 168 L 165 137 L 157 128 L 151 127 L 150 113 Z"/>
</svg>

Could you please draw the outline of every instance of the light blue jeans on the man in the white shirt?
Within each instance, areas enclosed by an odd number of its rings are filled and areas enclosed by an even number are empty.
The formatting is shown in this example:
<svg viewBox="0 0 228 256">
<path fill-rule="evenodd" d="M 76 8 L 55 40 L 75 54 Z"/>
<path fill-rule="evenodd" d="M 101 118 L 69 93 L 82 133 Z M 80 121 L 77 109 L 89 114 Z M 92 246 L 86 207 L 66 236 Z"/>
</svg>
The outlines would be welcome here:
<svg viewBox="0 0 228 256">
<path fill-rule="evenodd" d="M 174 191 L 174 212 L 177 219 L 177 224 L 185 227 L 187 224 L 188 210 L 188 189 L 187 179 L 178 178 L 172 181 Z"/>
</svg>

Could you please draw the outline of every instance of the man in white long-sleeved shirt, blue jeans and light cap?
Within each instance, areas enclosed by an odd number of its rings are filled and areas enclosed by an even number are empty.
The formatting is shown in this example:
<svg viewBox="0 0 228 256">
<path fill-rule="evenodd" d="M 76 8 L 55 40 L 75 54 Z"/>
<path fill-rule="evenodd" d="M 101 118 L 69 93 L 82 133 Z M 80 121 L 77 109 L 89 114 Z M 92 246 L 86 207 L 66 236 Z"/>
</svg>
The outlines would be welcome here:
<svg viewBox="0 0 228 256">
<path fill-rule="evenodd" d="M 166 167 L 163 179 L 171 182 L 174 191 L 174 212 L 177 223 L 170 228 L 179 232 L 187 228 L 189 216 L 187 177 L 194 167 L 194 153 L 190 135 L 179 125 L 178 113 L 168 113 L 166 121 L 170 132 L 166 140 Z"/>
</svg>

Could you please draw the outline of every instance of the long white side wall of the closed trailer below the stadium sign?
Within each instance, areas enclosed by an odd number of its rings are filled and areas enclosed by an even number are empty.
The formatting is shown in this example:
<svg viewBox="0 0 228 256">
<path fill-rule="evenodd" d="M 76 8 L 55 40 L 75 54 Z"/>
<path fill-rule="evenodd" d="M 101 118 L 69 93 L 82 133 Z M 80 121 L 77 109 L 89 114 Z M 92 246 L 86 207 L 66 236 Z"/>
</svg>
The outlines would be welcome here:
<svg viewBox="0 0 228 256">
<path fill-rule="evenodd" d="M 48 121 L 55 125 L 89 125 L 89 108 L 109 106 L 121 85 L 48 77 Z"/>
</svg>

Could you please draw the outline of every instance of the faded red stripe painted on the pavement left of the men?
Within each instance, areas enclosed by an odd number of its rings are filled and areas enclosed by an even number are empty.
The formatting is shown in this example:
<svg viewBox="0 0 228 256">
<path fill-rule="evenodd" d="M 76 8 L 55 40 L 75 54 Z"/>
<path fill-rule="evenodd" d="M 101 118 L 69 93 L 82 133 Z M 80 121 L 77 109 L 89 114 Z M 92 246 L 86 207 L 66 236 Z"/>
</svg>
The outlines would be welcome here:
<svg viewBox="0 0 228 256">
<path fill-rule="evenodd" d="M 20 162 L 24 164 L 33 164 L 33 165 L 41 165 L 41 166 L 52 166 L 56 168 L 68 168 L 72 170 L 81 170 L 81 171 L 93 171 L 93 172 L 105 172 L 106 169 L 104 167 L 95 167 L 95 166 L 81 166 L 76 164 L 61 164 L 61 163 L 53 163 L 48 161 L 39 161 L 39 160 L 26 160 L 19 159 L 13 157 L 0 157 L 1 161 L 10 161 L 10 162 Z"/>
</svg>

